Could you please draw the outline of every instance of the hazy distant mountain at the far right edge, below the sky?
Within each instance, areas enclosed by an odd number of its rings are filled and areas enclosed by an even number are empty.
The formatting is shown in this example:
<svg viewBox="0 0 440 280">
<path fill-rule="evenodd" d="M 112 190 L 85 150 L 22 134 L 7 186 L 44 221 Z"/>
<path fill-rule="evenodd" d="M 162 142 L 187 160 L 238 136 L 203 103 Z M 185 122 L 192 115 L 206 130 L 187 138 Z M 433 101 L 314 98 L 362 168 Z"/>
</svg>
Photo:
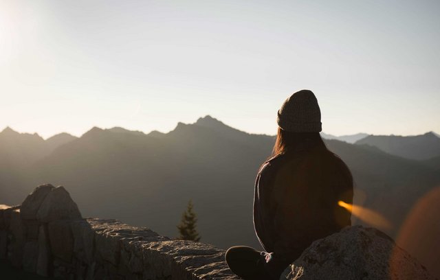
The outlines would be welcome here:
<svg viewBox="0 0 440 280">
<path fill-rule="evenodd" d="M 440 156 L 440 138 L 434 132 L 416 136 L 369 135 L 355 144 L 371 145 L 406 159 L 425 160 Z"/>
</svg>

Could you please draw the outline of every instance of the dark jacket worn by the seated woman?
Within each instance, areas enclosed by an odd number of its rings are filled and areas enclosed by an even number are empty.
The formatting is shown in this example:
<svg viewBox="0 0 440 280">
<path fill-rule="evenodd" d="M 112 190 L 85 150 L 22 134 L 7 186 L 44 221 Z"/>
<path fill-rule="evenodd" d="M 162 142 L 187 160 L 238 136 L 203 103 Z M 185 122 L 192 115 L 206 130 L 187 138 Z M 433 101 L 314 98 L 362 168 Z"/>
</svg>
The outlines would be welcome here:
<svg viewBox="0 0 440 280">
<path fill-rule="evenodd" d="M 353 203 L 347 165 L 324 147 L 278 154 L 261 166 L 255 181 L 254 228 L 268 271 L 279 274 L 311 242 L 351 225 Z"/>
</svg>

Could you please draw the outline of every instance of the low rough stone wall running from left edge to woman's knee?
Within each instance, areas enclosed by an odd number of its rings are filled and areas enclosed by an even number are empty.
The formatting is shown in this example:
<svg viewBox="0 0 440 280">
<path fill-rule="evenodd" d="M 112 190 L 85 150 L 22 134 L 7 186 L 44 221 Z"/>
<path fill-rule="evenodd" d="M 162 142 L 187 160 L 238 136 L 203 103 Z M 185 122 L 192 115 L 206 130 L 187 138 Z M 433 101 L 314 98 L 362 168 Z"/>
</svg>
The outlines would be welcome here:
<svg viewBox="0 0 440 280">
<path fill-rule="evenodd" d="M 209 244 L 171 240 L 118 220 L 83 219 L 63 187 L 41 185 L 0 207 L 0 259 L 61 279 L 239 279 Z"/>
</svg>

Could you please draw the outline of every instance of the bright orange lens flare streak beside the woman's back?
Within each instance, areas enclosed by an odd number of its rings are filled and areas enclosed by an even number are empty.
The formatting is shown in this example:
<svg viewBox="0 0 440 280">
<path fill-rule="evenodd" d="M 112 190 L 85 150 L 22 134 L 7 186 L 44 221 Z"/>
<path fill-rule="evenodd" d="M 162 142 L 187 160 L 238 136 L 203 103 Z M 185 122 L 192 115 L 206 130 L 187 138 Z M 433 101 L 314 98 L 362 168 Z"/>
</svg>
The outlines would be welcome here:
<svg viewBox="0 0 440 280">
<path fill-rule="evenodd" d="M 351 212 L 356 218 L 359 218 L 366 224 L 376 227 L 377 229 L 389 230 L 392 228 L 391 222 L 389 222 L 384 216 L 380 215 L 371 209 L 360 207 L 358 205 L 351 205 L 349 203 L 338 201 L 340 207 L 344 207 Z"/>
</svg>

